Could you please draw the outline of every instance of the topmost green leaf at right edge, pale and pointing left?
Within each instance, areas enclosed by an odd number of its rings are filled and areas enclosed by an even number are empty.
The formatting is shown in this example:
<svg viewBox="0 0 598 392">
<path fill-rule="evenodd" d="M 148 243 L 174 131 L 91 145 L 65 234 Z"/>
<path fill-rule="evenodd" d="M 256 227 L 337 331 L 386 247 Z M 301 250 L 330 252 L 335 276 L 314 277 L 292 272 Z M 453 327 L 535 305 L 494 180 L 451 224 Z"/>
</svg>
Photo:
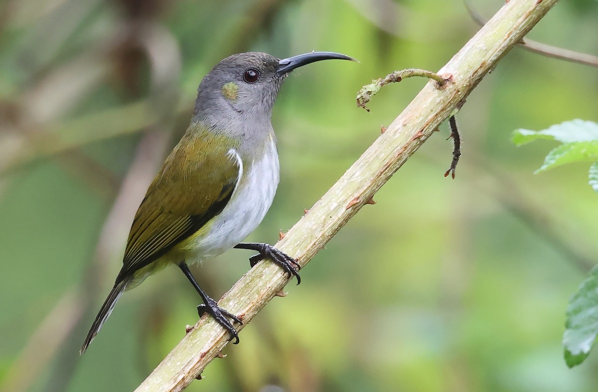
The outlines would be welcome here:
<svg viewBox="0 0 598 392">
<path fill-rule="evenodd" d="M 593 121 L 576 119 L 552 125 L 541 131 L 518 129 L 513 132 L 512 136 L 513 143 L 517 146 L 536 139 L 558 140 L 562 143 L 591 142 L 598 140 L 598 124 Z"/>
</svg>

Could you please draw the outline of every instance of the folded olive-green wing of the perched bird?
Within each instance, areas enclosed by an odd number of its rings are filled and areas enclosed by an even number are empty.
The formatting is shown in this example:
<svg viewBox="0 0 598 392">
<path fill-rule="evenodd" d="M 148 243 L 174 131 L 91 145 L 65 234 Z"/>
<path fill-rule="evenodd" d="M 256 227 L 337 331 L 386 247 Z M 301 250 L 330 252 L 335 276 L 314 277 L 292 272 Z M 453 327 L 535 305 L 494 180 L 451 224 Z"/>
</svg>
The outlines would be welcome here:
<svg viewBox="0 0 598 392">
<path fill-rule="evenodd" d="M 185 135 L 139 206 L 117 283 L 156 261 L 222 212 L 242 172 L 230 145 L 207 132 Z"/>
</svg>

